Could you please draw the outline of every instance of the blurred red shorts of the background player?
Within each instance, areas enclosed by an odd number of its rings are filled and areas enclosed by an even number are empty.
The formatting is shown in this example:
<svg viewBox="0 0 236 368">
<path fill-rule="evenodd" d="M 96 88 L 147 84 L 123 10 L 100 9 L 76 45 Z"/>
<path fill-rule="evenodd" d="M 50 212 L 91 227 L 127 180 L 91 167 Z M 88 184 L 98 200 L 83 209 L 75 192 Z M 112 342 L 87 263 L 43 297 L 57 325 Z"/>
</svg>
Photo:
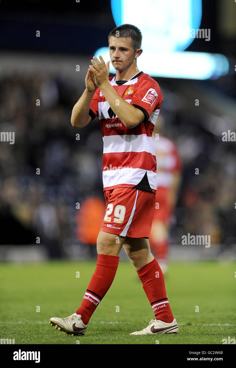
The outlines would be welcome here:
<svg viewBox="0 0 236 368">
<path fill-rule="evenodd" d="M 155 208 L 154 221 L 168 222 L 173 208 L 168 203 L 169 188 L 157 187 L 156 203 L 159 203 L 159 208 Z"/>
</svg>

